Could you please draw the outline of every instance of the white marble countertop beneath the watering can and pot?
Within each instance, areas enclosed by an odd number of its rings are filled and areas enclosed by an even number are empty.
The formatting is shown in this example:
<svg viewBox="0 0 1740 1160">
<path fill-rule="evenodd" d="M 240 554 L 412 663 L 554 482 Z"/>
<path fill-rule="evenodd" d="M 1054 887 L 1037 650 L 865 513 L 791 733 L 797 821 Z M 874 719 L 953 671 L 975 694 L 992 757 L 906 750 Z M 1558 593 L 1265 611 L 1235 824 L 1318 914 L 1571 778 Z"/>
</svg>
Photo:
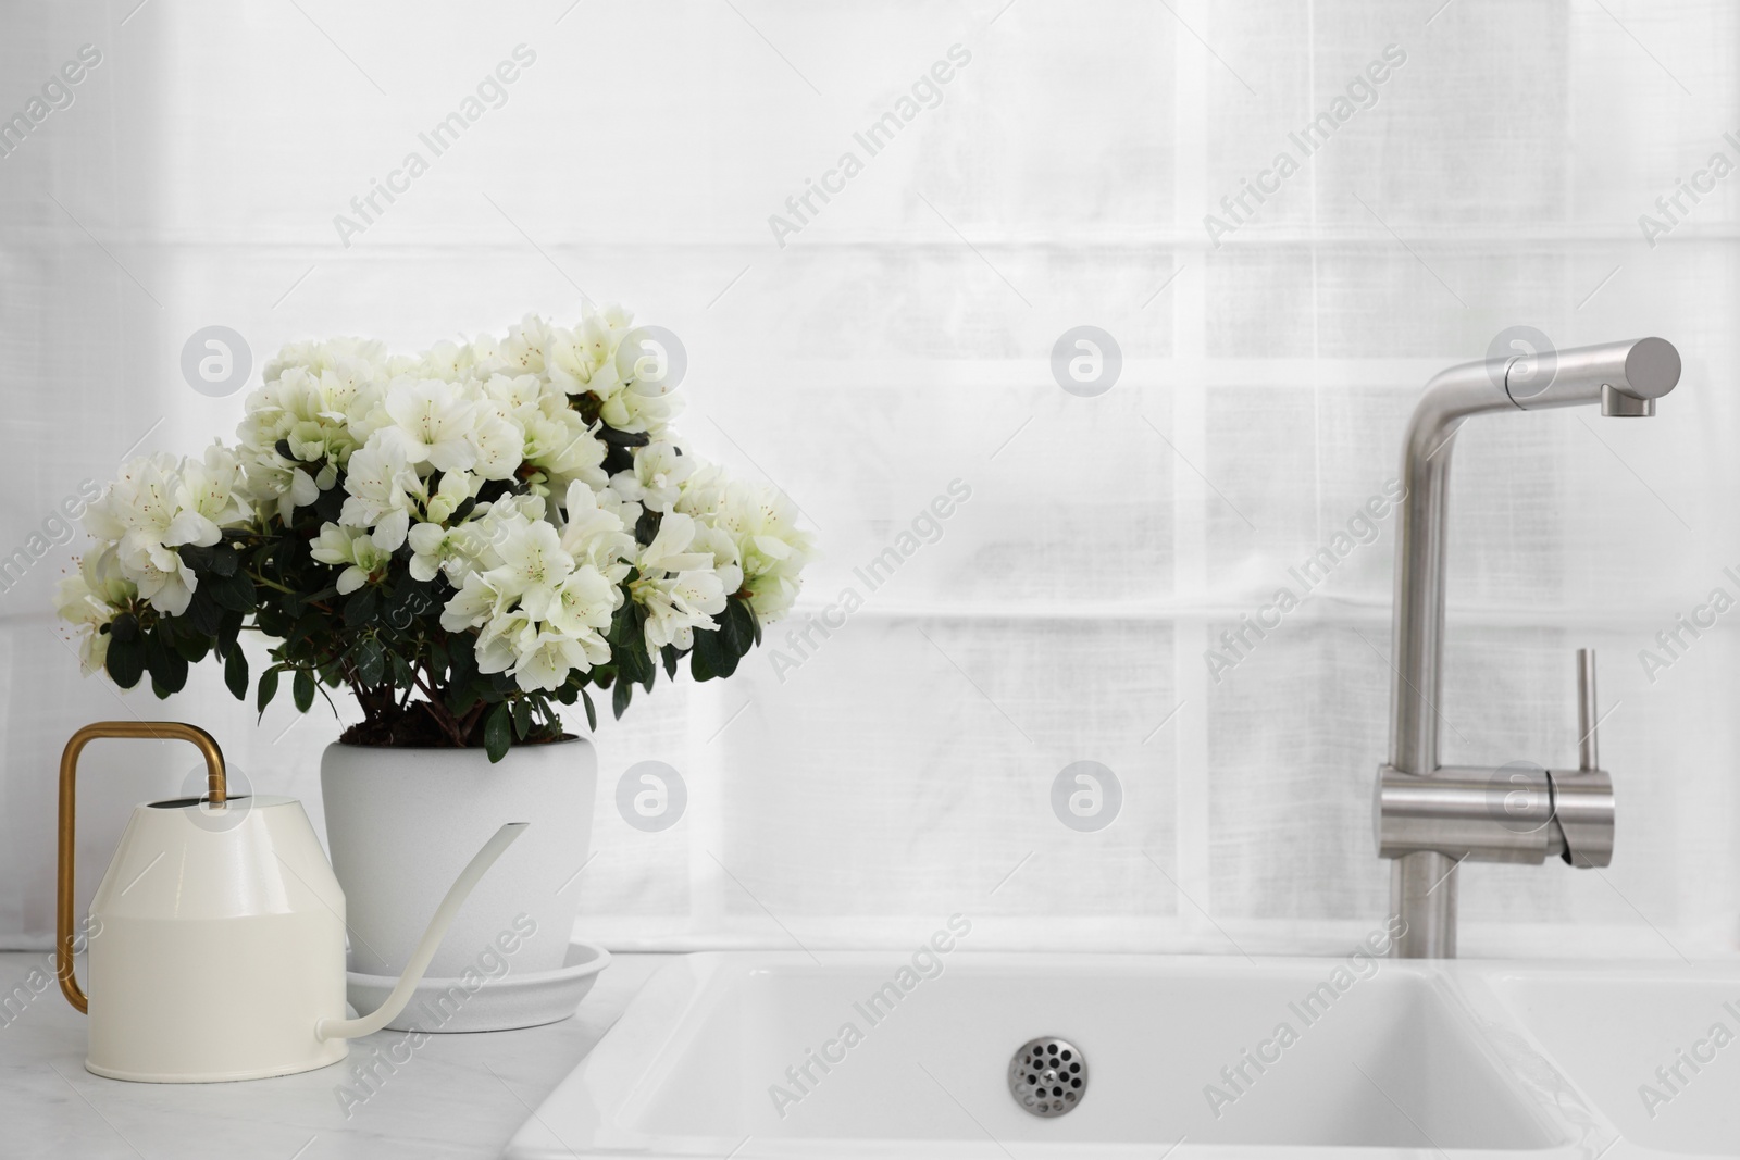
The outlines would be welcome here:
<svg viewBox="0 0 1740 1160">
<path fill-rule="evenodd" d="M 350 1059 L 245 1083 L 125 1083 L 85 1071 L 85 1017 L 52 984 L 49 953 L 0 953 L 0 1155 L 63 1160 L 494 1160 L 532 1108 L 592 1050 L 665 962 L 618 955 L 572 1019 L 524 1031 L 432 1035 L 360 1087 L 351 1064 L 404 1031 L 351 1043 Z M 16 986 L 45 967 L 47 990 Z M 371 1052 L 371 1047 L 376 1050 Z M 348 1096 L 346 1096 L 348 1089 Z"/>
</svg>

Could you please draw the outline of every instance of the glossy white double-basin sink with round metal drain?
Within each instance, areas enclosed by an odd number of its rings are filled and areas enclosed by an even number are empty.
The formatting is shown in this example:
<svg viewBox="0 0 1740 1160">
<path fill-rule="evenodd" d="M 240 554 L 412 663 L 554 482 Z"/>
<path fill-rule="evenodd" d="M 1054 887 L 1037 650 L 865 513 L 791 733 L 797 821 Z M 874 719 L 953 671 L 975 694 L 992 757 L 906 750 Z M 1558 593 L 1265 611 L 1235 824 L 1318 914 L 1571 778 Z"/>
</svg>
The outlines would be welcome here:
<svg viewBox="0 0 1740 1160">
<path fill-rule="evenodd" d="M 506 1155 L 1740 1155 L 1740 1042 L 1707 1092 L 1655 1120 L 1625 1106 L 1656 1064 L 1648 1028 L 1690 1049 L 1714 1000 L 1740 1009 L 1740 970 L 955 951 L 920 977 L 894 953 L 820 958 L 672 960 Z M 1007 1089 L 1035 1037 L 1086 1057 L 1058 1118 Z"/>
</svg>

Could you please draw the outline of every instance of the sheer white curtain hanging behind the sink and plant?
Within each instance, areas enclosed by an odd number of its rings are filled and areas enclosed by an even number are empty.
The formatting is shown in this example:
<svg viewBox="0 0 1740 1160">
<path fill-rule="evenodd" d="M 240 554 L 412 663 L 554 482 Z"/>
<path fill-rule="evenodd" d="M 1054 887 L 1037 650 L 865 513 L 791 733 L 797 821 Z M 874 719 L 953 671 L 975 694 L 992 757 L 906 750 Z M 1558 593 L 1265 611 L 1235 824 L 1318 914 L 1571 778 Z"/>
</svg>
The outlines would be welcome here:
<svg viewBox="0 0 1740 1160">
<path fill-rule="evenodd" d="M 1357 543 L 1361 510 L 1425 379 L 1531 325 L 1662 334 L 1686 372 L 1648 423 L 1458 440 L 1444 758 L 1573 760 L 1594 645 L 1620 793 L 1606 871 L 1463 870 L 1465 953 L 1740 946 L 1740 612 L 1674 657 L 1655 640 L 1740 598 L 1740 176 L 1696 177 L 1740 163 L 1731 5 L 136 2 L 0 16 L 0 115 L 101 52 L 0 158 L 0 551 L 47 529 L 0 593 L 0 944 L 49 944 L 56 758 L 84 722 L 205 725 L 318 824 L 324 710 L 256 723 L 214 668 L 122 696 L 52 631 L 63 497 L 235 426 L 242 393 L 183 379 L 188 337 L 235 329 L 258 381 L 291 339 L 414 350 L 586 294 L 682 336 L 689 442 L 785 489 L 826 557 L 733 682 L 600 730 L 581 936 L 821 950 L 959 911 L 981 948 L 1258 953 L 1378 925 L 1394 517 Z M 520 45 L 437 157 L 421 134 Z M 872 153 L 854 134 L 889 111 Z M 1322 113 L 1305 157 L 1289 134 Z M 412 151 L 426 172 L 392 177 Z M 1296 172 L 1265 177 L 1282 151 Z M 364 221 L 351 198 L 390 179 Z M 1237 207 L 1246 181 L 1272 193 Z M 1707 191 L 1669 221 L 1683 181 Z M 811 183 L 833 193 L 804 207 Z M 1053 377 L 1079 325 L 1122 353 L 1098 397 Z M 1211 673 L 1340 532 L 1329 577 Z M 830 635 L 792 643 L 806 617 Z M 658 833 L 616 809 L 647 760 L 687 788 Z M 85 890 L 125 809 L 193 762 L 90 751 Z M 1075 762 L 1117 777 L 1103 830 L 1053 809 Z"/>
</svg>

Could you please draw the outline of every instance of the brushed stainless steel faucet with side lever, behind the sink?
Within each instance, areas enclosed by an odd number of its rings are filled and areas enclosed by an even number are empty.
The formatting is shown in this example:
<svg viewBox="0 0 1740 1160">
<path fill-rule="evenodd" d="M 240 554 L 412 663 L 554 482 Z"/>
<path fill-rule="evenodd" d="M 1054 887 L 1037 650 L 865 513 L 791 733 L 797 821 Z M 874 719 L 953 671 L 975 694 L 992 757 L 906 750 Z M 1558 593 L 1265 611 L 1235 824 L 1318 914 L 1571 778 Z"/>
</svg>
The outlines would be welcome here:
<svg viewBox="0 0 1740 1160">
<path fill-rule="evenodd" d="M 1390 760 L 1378 770 L 1373 821 L 1390 863 L 1390 910 L 1406 923 L 1399 958 L 1456 957 L 1456 868 L 1463 861 L 1580 868 L 1613 861 L 1613 777 L 1596 751 L 1596 656 L 1576 652 L 1578 769 L 1439 765 L 1444 558 L 1451 443 L 1479 414 L 1601 405 L 1653 416 L 1679 383 L 1663 339 L 1496 357 L 1434 377 L 1402 442 L 1390 666 Z"/>
</svg>

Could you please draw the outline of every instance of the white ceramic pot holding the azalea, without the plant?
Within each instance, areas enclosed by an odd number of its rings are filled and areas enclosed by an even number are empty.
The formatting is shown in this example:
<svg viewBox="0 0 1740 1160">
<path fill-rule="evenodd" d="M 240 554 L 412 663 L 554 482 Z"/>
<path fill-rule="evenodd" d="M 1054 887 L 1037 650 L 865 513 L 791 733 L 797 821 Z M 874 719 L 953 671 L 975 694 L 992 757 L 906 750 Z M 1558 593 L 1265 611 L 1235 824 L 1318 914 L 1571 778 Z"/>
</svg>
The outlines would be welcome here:
<svg viewBox="0 0 1740 1160">
<path fill-rule="evenodd" d="M 597 779 L 597 751 L 578 737 L 513 746 L 494 765 L 484 750 L 329 744 L 320 791 L 350 910 L 350 969 L 397 976 L 447 885 L 510 821 L 531 826 L 466 899 L 428 974 L 560 969 Z"/>
</svg>

